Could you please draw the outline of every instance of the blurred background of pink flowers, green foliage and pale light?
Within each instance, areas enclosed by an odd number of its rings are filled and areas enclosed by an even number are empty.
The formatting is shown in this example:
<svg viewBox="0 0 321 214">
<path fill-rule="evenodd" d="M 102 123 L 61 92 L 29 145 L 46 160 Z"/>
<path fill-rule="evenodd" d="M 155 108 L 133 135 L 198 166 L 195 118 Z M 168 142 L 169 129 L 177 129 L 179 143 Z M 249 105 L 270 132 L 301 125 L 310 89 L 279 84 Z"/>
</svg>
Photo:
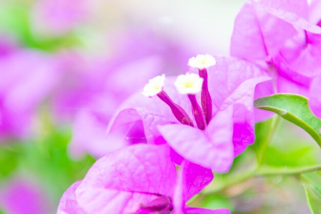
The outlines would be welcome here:
<svg viewBox="0 0 321 214">
<path fill-rule="evenodd" d="M 55 213 L 63 192 L 97 158 L 126 145 L 105 139 L 117 106 L 155 75 L 185 73 L 191 56 L 228 55 L 244 3 L 0 0 L 0 213 Z M 320 164 L 311 137 L 284 123 L 265 164 Z M 240 155 L 217 184 L 251 167 L 254 152 L 253 146 Z M 295 178 L 231 188 L 191 204 L 233 213 L 310 213 Z"/>
</svg>

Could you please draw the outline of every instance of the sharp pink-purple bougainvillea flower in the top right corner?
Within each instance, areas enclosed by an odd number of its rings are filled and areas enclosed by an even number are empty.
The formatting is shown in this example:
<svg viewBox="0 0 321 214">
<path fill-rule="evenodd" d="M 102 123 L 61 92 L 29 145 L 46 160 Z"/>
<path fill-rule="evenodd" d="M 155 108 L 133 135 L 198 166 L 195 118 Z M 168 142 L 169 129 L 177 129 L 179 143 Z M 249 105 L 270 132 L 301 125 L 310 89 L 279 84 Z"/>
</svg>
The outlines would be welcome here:
<svg viewBox="0 0 321 214">
<path fill-rule="evenodd" d="M 318 1 L 311 8 L 305 0 L 290 4 L 283 0 L 248 1 L 235 19 L 231 55 L 254 62 L 271 74 L 268 93 L 307 96 L 321 72 L 319 8 Z"/>
</svg>

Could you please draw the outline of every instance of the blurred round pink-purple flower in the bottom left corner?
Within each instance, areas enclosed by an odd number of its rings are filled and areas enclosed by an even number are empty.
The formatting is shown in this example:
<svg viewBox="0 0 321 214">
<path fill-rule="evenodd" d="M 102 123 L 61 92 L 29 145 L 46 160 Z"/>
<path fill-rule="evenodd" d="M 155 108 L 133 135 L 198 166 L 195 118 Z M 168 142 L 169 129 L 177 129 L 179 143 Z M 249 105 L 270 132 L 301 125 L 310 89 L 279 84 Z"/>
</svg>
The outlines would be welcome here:
<svg viewBox="0 0 321 214">
<path fill-rule="evenodd" d="M 41 190 L 26 181 L 12 181 L 0 192 L 0 207 L 7 214 L 43 214 L 49 208 Z"/>
</svg>

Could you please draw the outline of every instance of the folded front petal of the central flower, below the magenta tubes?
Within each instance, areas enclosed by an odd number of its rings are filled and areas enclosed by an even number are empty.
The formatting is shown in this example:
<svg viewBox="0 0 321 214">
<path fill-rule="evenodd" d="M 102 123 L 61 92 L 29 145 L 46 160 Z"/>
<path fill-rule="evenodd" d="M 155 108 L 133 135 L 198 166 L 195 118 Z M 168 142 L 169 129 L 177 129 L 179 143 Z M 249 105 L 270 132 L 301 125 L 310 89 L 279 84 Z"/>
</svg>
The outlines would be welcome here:
<svg viewBox="0 0 321 214">
<path fill-rule="evenodd" d="M 166 142 L 185 159 L 217 172 L 227 172 L 233 162 L 231 109 L 220 111 L 206 132 L 186 125 L 159 126 Z"/>
</svg>

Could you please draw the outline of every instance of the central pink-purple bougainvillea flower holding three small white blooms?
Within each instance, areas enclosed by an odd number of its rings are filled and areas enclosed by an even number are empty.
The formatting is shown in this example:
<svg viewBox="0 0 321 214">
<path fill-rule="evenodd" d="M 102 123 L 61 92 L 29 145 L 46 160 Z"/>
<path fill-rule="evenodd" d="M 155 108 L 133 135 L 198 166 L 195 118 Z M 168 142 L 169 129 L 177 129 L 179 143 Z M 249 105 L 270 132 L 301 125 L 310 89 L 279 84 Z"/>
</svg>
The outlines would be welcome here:
<svg viewBox="0 0 321 214">
<path fill-rule="evenodd" d="M 254 141 L 254 89 L 270 77 L 251 63 L 228 57 L 217 57 L 215 66 L 199 69 L 199 74 L 193 73 L 195 79 L 167 77 L 164 87 L 160 82 L 164 78 L 151 80 L 144 89 L 150 90 L 152 84 L 156 90 L 143 93 L 154 96 L 144 98 L 139 92 L 125 101 L 108 133 L 126 138 L 138 124 L 148 143 L 168 143 L 192 163 L 227 172 L 234 155 Z M 187 94 L 177 91 L 174 85 L 179 84 Z"/>
</svg>

